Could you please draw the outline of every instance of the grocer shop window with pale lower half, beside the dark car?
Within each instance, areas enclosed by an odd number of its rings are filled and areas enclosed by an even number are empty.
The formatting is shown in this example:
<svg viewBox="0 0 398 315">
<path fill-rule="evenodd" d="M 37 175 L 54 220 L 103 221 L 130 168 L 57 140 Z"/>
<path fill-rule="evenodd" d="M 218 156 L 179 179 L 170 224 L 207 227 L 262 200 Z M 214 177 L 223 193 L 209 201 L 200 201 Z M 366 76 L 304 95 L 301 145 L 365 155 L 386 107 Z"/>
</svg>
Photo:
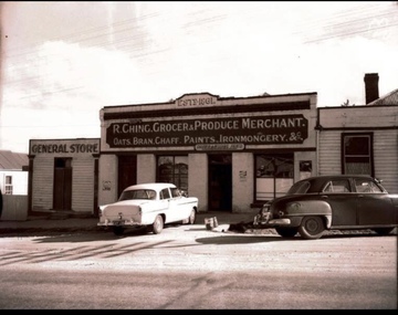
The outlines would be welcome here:
<svg viewBox="0 0 398 315">
<path fill-rule="evenodd" d="M 284 196 L 294 180 L 293 154 L 255 156 L 255 201 Z"/>
</svg>

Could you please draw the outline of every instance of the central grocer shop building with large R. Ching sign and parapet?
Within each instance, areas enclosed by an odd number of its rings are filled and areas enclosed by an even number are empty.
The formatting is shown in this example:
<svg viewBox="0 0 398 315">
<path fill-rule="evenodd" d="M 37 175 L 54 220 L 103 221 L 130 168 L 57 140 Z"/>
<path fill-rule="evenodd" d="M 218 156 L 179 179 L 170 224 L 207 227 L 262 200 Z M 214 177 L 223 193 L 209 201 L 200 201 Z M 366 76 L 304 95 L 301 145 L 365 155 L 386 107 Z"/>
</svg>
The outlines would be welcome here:
<svg viewBox="0 0 398 315">
<path fill-rule="evenodd" d="M 317 172 L 317 94 L 219 97 L 100 111 L 98 203 L 127 186 L 174 182 L 199 211 L 247 212 Z"/>
</svg>

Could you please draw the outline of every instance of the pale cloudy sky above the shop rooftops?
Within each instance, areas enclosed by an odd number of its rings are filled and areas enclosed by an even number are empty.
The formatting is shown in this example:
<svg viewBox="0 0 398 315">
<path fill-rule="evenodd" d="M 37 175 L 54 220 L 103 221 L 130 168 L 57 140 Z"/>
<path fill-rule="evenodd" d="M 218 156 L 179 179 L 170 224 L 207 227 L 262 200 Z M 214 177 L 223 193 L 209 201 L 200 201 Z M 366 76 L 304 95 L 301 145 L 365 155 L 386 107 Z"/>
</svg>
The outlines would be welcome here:
<svg viewBox="0 0 398 315">
<path fill-rule="evenodd" d="M 398 88 L 397 1 L 1 2 L 0 149 L 100 138 L 104 106 Z"/>
</svg>

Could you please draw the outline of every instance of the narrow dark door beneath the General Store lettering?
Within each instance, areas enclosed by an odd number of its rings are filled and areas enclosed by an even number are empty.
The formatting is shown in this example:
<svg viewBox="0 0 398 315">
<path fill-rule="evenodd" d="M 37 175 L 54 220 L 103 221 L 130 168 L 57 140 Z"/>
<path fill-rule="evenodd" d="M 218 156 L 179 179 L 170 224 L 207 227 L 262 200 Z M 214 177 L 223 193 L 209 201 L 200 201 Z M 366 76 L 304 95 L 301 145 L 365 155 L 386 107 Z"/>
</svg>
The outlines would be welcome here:
<svg viewBox="0 0 398 315">
<path fill-rule="evenodd" d="M 54 210 L 72 210 L 72 158 L 54 159 Z"/>
</svg>

